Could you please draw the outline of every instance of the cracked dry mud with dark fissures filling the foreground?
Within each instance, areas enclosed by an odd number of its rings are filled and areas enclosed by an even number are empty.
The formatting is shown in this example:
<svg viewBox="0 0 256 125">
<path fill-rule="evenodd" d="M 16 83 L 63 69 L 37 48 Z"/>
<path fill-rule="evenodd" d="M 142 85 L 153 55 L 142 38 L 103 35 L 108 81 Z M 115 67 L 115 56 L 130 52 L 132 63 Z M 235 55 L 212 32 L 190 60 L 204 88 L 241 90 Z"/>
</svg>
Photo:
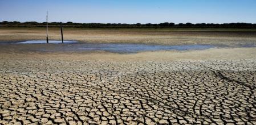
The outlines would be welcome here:
<svg viewBox="0 0 256 125">
<path fill-rule="evenodd" d="M 256 60 L 0 61 L 0 124 L 255 124 Z"/>
</svg>

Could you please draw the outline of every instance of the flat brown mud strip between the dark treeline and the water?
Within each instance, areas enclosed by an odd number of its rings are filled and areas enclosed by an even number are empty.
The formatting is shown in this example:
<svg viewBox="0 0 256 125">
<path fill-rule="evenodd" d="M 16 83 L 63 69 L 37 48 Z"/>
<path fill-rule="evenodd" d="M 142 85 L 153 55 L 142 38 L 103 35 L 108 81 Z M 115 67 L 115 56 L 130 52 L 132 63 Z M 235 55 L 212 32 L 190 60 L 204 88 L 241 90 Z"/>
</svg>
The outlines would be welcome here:
<svg viewBox="0 0 256 125">
<path fill-rule="evenodd" d="M 64 28 L 64 40 L 91 43 L 142 43 L 142 44 L 255 44 L 255 30 L 79 30 Z M 0 41 L 45 40 L 46 31 L 0 29 Z M 49 30 L 50 40 L 60 40 L 59 29 Z"/>
</svg>

